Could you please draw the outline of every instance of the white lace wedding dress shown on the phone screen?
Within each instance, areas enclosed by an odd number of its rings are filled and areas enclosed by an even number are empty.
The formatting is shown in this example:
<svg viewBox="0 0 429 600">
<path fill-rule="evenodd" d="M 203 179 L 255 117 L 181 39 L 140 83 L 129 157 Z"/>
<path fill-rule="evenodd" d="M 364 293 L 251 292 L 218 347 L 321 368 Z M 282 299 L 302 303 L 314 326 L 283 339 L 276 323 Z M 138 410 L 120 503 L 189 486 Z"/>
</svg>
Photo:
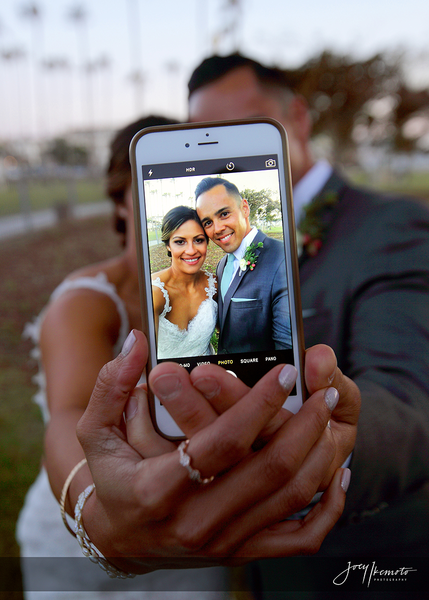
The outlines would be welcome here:
<svg viewBox="0 0 429 600">
<path fill-rule="evenodd" d="M 210 344 L 217 320 L 217 304 L 213 300 L 216 293 L 214 275 L 206 271 L 208 287 L 205 287 L 207 300 L 201 302 L 194 319 L 191 319 L 186 329 L 179 329 L 175 323 L 167 319 L 170 312 L 170 298 L 159 277 L 152 285 L 159 287 L 164 295 L 164 310 L 159 315 L 158 327 L 158 358 L 182 358 L 182 356 L 204 356 L 214 354 Z"/>
</svg>

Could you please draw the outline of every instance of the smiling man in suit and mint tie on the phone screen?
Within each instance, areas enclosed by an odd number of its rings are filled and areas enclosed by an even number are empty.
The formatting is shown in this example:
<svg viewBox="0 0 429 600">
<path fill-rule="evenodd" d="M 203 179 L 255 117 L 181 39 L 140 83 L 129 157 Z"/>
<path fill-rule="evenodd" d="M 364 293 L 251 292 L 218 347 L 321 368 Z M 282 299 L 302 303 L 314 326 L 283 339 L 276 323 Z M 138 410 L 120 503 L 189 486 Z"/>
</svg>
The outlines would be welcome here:
<svg viewBox="0 0 429 600">
<path fill-rule="evenodd" d="M 205 232 L 226 253 L 216 269 L 217 352 L 291 348 L 282 242 L 250 225 L 249 203 L 226 179 L 204 178 L 195 189 L 195 199 Z"/>
</svg>

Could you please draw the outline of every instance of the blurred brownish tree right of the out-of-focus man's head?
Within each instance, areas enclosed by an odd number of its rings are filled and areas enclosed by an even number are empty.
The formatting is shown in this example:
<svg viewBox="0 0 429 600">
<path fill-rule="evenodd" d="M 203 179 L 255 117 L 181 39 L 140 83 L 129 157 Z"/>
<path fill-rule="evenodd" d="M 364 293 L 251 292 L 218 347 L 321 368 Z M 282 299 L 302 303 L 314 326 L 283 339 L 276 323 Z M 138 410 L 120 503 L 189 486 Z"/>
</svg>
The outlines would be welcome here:
<svg viewBox="0 0 429 600">
<path fill-rule="evenodd" d="M 416 115 L 429 119 L 429 92 L 407 85 L 400 55 L 358 61 L 325 51 L 285 74 L 309 103 L 314 134 L 328 134 L 343 161 L 354 159 L 356 142 L 415 149 L 418 137 L 405 136 L 404 125 Z"/>
</svg>

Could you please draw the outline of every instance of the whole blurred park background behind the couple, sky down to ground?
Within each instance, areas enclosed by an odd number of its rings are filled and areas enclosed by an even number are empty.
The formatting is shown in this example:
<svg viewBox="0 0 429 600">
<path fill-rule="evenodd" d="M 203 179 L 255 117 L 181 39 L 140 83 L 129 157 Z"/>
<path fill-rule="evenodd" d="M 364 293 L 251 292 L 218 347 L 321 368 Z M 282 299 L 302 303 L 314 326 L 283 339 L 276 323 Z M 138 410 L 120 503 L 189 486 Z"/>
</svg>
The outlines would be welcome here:
<svg viewBox="0 0 429 600">
<path fill-rule="evenodd" d="M 427 200 L 428 40 L 427 0 L 1 1 L 2 592 L 22 597 L 14 524 L 43 439 L 22 331 L 65 275 L 119 251 L 103 176 L 114 131 L 186 120 L 194 68 L 238 50 L 289 71 L 317 155 Z"/>
</svg>

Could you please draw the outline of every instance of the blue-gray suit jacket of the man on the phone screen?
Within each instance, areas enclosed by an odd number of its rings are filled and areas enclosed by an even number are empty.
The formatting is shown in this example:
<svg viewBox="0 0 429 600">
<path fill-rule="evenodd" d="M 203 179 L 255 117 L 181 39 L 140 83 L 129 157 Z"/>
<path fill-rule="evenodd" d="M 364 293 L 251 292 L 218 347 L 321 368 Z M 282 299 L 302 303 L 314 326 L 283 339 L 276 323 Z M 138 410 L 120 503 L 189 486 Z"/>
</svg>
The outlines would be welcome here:
<svg viewBox="0 0 429 600">
<path fill-rule="evenodd" d="M 256 266 L 238 269 L 225 298 L 218 294 L 218 353 L 256 352 L 291 348 L 291 320 L 282 242 L 258 231 L 253 239 Z M 220 290 L 227 254 L 220 260 L 216 278 Z"/>
</svg>

